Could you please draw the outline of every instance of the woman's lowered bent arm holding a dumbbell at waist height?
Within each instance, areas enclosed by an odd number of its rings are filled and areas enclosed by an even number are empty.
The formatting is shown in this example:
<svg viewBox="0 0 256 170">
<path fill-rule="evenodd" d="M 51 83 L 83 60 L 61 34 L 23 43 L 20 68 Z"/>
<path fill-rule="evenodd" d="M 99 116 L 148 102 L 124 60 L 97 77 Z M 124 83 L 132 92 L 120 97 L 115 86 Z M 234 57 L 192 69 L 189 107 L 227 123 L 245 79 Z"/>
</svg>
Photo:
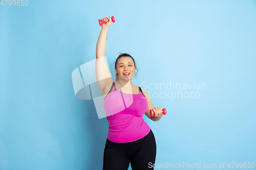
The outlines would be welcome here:
<svg viewBox="0 0 256 170">
<path fill-rule="evenodd" d="M 163 114 L 161 114 L 160 116 L 151 116 L 150 115 L 150 110 L 154 110 L 155 113 L 162 113 L 162 108 L 160 107 L 155 107 L 153 105 L 153 103 L 151 102 L 151 99 L 150 99 L 150 95 L 148 95 L 148 93 L 146 92 L 146 90 L 143 88 L 143 87 L 140 87 L 141 90 L 143 91 L 144 95 L 146 96 L 146 101 L 147 101 L 147 110 L 146 110 L 146 113 L 145 115 L 149 118 L 149 119 L 152 119 L 154 122 L 157 122 L 158 120 L 160 120 L 163 116 Z"/>
</svg>

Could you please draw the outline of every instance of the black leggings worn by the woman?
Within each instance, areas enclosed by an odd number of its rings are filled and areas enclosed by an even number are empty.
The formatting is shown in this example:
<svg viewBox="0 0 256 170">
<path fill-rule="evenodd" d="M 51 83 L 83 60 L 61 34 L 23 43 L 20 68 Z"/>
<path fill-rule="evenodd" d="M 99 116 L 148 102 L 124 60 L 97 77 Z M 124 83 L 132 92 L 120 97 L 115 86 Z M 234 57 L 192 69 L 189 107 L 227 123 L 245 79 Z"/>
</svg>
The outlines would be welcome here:
<svg viewBox="0 0 256 170">
<path fill-rule="evenodd" d="M 107 138 L 103 170 L 127 170 L 130 162 L 133 170 L 154 169 L 156 152 L 156 140 L 152 130 L 143 138 L 132 142 L 118 143 Z"/>
</svg>

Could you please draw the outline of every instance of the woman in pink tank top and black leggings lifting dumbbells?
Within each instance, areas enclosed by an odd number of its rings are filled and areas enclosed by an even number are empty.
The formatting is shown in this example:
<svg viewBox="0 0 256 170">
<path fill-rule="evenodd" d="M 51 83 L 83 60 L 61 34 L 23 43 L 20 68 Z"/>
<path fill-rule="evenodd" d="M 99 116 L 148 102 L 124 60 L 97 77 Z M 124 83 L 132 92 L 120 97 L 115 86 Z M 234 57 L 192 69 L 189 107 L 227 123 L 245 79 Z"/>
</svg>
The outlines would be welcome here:
<svg viewBox="0 0 256 170">
<path fill-rule="evenodd" d="M 143 120 L 143 114 L 158 121 L 162 118 L 162 108 L 154 107 L 146 90 L 132 83 L 137 67 L 129 54 L 121 54 L 116 59 L 116 81 L 113 82 L 104 59 L 112 20 L 110 17 L 101 20 L 108 21 L 101 26 L 96 46 L 96 78 L 109 122 L 103 170 L 126 170 L 130 162 L 133 170 L 154 169 L 156 141 L 151 128 Z M 150 115 L 151 109 L 154 116 Z"/>
</svg>

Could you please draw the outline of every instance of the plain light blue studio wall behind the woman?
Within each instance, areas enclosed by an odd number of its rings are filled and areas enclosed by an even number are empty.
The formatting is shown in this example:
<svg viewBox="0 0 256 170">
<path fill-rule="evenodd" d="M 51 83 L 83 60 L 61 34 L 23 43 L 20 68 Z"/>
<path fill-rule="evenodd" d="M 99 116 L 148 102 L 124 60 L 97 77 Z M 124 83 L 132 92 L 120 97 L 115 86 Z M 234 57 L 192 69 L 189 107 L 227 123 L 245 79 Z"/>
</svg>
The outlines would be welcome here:
<svg viewBox="0 0 256 170">
<path fill-rule="evenodd" d="M 149 89 L 154 83 L 207 84 L 179 89 L 198 99 L 151 96 L 167 110 L 159 122 L 143 116 L 156 138 L 156 164 L 256 162 L 256 1 L 5 3 L 0 169 L 102 169 L 108 121 L 92 100 L 75 98 L 71 74 L 96 58 L 105 16 L 116 19 L 105 53 L 112 75 L 118 53 L 130 52 L 140 68 L 133 83 L 147 92 L 178 92 Z"/>
</svg>

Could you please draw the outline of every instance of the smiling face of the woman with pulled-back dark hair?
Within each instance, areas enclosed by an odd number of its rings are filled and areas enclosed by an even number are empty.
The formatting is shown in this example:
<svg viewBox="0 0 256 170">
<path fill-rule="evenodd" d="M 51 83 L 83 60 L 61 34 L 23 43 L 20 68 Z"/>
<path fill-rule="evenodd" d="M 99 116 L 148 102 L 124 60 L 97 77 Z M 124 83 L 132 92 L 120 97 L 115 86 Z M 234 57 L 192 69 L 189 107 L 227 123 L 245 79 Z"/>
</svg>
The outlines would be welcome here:
<svg viewBox="0 0 256 170">
<path fill-rule="evenodd" d="M 129 78 L 130 81 L 136 72 L 136 67 L 134 65 L 133 59 L 131 57 L 121 57 L 118 59 L 116 64 L 116 73 L 119 76 L 119 79 L 127 79 Z M 124 75 L 125 73 L 130 73 L 129 75 Z M 127 78 L 125 78 L 125 77 Z"/>
</svg>

